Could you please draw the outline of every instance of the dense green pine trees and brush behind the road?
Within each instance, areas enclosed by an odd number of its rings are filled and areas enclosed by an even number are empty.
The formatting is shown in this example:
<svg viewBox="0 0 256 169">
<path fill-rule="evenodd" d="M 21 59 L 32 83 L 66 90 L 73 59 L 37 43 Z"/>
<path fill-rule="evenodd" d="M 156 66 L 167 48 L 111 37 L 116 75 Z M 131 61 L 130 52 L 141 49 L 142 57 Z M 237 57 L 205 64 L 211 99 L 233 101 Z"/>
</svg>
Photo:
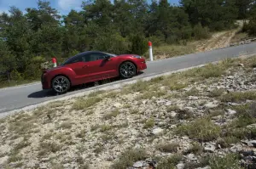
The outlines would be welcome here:
<svg viewBox="0 0 256 169">
<path fill-rule="evenodd" d="M 181 0 L 178 6 L 167 0 L 88 0 L 81 7 L 61 15 L 38 0 L 38 8 L 26 13 L 10 7 L 0 14 L 0 86 L 39 79 L 41 64 L 52 57 L 60 63 L 86 50 L 148 57 L 148 40 L 156 55 L 172 57 L 207 48 L 195 41 L 236 29 L 235 20 L 250 20 L 243 28 L 249 35 L 256 30 L 253 0 Z"/>
</svg>

